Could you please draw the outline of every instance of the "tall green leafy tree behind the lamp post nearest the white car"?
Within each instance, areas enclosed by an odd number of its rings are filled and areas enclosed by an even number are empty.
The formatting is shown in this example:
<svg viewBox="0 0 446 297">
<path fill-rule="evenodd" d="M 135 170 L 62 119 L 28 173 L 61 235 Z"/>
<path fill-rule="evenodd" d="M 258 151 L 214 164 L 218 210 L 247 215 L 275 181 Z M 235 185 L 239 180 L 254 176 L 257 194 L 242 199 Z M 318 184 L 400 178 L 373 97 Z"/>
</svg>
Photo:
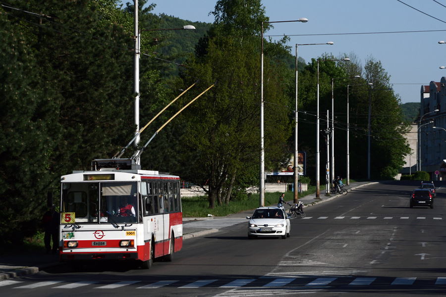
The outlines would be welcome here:
<svg viewBox="0 0 446 297">
<path fill-rule="evenodd" d="M 183 114 L 188 125 L 183 136 L 185 152 L 196 151 L 195 158 L 185 154 L 189 171 L 184 171 L 183 176 L 199 185 L 209 186 L 211 208 L 215 207 L 216 200 L 228 202 L 234 183 L 243 180 L 237 176 L 252 176 L 251 172 L 258 170 L 258 33 L 261 21 L 267 20 L 263 8 L 259 7 L 263 6 L 258 0 L 218 1 L 213 12 L 216 22 L 211 29 L 212 38 L 197 48 L 197 56 L 183 73 L 183 81 L 189 83 L 192 78 L 200 78 L 201 89 L 216 83 L 204 98 L 198 99 L 200 101 Z M 270 52 L 274 53 L 271 48 Z M 274 56 L 269 57 L 265 62 L 264 97 L 267 103 L 264 122 L 266 159 L 271 165 L 273 156 L 280 150 L 277 148 L 286 141 L 290 130 L 286 118 L 283 120 L 287 104 L 285 87 L 281 84 L 284 73 L 281 65 L 274 62 Z M 251 181 L 251 184 L 255 183 Z M 222 192 L 226 193 L 223 198 Z"/>
</svg>

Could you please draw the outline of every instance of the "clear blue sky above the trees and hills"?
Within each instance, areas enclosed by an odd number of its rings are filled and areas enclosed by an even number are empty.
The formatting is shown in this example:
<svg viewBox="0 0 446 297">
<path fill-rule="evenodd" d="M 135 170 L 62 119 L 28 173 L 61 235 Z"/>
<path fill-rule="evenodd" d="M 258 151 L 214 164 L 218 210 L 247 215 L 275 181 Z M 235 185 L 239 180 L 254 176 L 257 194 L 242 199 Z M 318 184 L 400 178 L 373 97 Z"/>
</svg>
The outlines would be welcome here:
<svg viewBox="0 0 446 297">
<path fill-rule="evenodd" d="M 155 14 L 214 22 L 209 13 L 216 0 L 149 2 L 156 4 Z M 262 4 L 271 22 L 308 19 L 273 24 L 265 36 L 289 36 L 293 55 L 296 44 L 334 42 L 298 46 L 298 56 L 306 63 L 324 53 L 353 53 L 363 66 L 373 57 L 381 61 L 402 103 L 420 102 L 421 87 L 446 76 L 446 69 L 440 69 L 446 66 L 446 44 L 438 43 L 446 41 L 446 0 L 262 0 Z"/>
</svg>

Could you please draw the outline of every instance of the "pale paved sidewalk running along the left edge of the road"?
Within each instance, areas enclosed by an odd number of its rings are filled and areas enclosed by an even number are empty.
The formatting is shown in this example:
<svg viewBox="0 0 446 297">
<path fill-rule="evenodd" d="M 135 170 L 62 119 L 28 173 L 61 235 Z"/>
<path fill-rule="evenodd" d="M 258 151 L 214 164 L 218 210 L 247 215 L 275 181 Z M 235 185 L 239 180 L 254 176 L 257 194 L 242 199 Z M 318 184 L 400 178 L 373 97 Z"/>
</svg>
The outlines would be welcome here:
<svg viewBox="0 0 446 297">
<path fill-rule="evenodd" d="M 373 183 L 351 183 L 349 186 L 345 186 L 345 189 L 350 191 L 370 184 Z M 338 196 L 332 195 L 328 197 L 325 196 L 325 191 L 323 191 L 320 194 L 320 199 L 316 199 L 316 195 L 312 194 L 299 198 L 299 200 L 304 203 L 306 209 L 306 207 L 332 200 Z M 183 240 L 216 233 L 223 227 L 246 222 L 246 216 L 250 216 L 252 212 L 253 210 L 247 210 L 225 217 L 183 218 Z M 2 255 L 0 257 L 0 281 L 37 273 L 45 268 L 61 265 L 58 260 L 58 255 L 47 255 L 44 249 L 41 252 L 32 252 L 29 254 Z"/>
</svg>

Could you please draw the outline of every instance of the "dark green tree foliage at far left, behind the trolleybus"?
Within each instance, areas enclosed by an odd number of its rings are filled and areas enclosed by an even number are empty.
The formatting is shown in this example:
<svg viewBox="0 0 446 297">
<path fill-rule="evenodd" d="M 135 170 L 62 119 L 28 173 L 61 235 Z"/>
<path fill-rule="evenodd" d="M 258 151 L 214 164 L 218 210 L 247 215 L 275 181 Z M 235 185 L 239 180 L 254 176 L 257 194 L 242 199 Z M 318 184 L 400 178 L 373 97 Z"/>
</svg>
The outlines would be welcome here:
<svg viewBox="0 0 446 297">
<path fill-rule="evenodd" d="M 126 79 L 133 55 L 122 50 L 130 36 L 100 23 L 94 1 L 14 5 L 23 11 L 0 20 L 0 236 L 18 243 L 39 228 L 46 190 L 60 175 L 110 156 L 134 129 Z M 49 17 L 37 25 L 24 11 Z"/>
</svg>

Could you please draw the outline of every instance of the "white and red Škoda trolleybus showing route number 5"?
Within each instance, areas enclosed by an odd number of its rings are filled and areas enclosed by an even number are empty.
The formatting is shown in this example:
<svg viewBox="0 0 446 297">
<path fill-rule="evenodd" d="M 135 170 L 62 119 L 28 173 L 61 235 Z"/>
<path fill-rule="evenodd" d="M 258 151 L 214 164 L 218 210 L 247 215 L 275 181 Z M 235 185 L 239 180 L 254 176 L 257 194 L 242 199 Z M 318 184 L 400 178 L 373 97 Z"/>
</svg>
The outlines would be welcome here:
<svg viewBox="0 0 446 297">
<path fill-rule="evenodd" d="M 173 259 L 182 247 L 179 177 L 97 159 L 61 177 L 60 260 Z"/>
</svg>

